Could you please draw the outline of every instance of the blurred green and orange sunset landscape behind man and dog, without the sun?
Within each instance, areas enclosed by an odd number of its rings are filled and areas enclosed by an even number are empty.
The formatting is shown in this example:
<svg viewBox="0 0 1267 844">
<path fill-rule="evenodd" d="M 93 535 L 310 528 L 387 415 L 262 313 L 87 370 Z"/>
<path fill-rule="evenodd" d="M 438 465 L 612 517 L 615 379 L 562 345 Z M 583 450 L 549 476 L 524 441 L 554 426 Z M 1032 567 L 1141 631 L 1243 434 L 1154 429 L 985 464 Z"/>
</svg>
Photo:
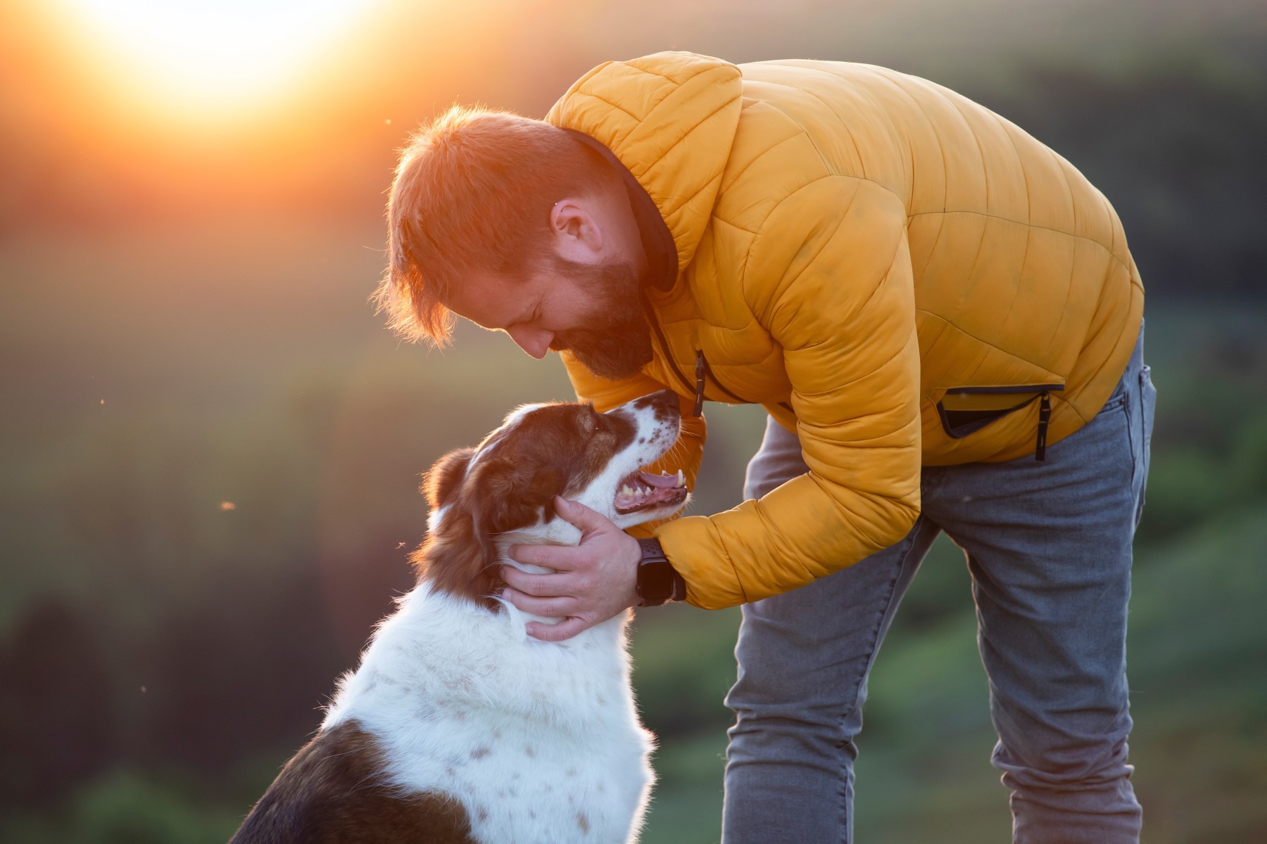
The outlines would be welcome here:
<svg viewBox="0 0 1267 844">
<path fill-rule="evenodd" d="M 136 95 L 73 5 L 0 3 L 0 840 L 232 834 L 409 587 L 418 475 L 570 397 L 502 335 L 381 326 L 393 149 L 452 101 L 540 115 L 665 48 L 926 76 L 1115 204 L 1159 392 L 1129 652 L 1145 840 L 1267 840 L 1261 1 L 370 3 L 242 113 Z M 708 419 L 694 512 L 737 502 L 764 421 Z M 1009 840 L 968 587 L 939 540 L 874 671 L 859 841 Z M 636 621 L 646 841 L 718 838 L 737 619 Z"/>
</svg>

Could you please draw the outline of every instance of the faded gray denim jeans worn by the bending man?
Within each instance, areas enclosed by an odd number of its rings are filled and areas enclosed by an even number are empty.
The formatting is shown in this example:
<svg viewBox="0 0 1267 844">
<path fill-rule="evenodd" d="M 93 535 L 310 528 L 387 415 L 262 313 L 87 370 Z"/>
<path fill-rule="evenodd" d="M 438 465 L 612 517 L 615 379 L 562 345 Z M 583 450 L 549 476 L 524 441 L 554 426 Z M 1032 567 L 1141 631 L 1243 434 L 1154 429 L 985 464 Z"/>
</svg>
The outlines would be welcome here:
<svg viewBox="0 0 1267 844">
<path fill-rule="evenodd" d="M 1126 736 L 1126 601 L 1156 391 L 1143 332 L 1100 414 L 1006 463 L 926 467 L 907 537 L 830 577 L 744 606 L 726 763 L 725 844 L 853 840 L 854 736 L 867 676 L 944 530 L 968 557 L 978 644 L 1011 790 L 1012 840 L 1139 840 Z M 769 420 L 746 497 L 805 473 Z"/>
</svg>

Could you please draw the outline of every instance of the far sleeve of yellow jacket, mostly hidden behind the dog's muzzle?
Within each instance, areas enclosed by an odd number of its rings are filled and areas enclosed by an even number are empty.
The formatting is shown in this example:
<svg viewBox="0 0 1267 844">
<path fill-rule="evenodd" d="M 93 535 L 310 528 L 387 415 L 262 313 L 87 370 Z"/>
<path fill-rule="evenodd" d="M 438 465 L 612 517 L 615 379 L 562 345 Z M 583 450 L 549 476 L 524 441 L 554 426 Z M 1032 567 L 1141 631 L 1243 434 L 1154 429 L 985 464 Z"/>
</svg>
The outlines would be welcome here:
<svg viewBox="0 0 1267 844">
<path fill-rule="evenodd" d="M 560 352 L 564 366 L 568 368 L 568 378 L 573 390 L 576 391 L 576 401 L 585 401 L 594 405 L 598 413 L 607 413 L 613 407 L 620 407 L 627 401 L 634 401 L 640 396 L 664 390 L 664 385 L 647 375 L 636 375 L 632 378 L 609 381 L 599 378 L 584 367 L 571 352 Z M 693 400 L 678 394 L 678 409 L 682 411 L 682 430 L 678 442 L 674 443 L 664 457 L 647 467 L 651 472 L 677 472 L 687 478 L 687 488 L 696 488 L 696 477 L 699 475 L 699 463 L 703 459 L 704 440 L 708 438 L 703 416 L 692 416 Z M 674 516 L 673 519 L 675 519 Z M 625 533 L 632 537 L 646 538 L 655 533 L 655 529 L 673 519 L 658 519 L 646 521 Z"/>
</svg>

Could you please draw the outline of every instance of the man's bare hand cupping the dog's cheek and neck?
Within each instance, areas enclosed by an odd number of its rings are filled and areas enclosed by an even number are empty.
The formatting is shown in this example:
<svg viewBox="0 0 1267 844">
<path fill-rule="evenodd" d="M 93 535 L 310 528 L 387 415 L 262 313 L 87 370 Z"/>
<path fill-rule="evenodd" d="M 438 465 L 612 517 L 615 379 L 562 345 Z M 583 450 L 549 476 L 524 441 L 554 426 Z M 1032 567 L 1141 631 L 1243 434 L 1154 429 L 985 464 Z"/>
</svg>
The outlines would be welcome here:
<svg viewBox="0 0 1267 844">
<path fill-rule="evenodd" d="M 642 552 L 637 540 L 609 519 L 583 504 L 555 497 L 560 516 L 580 529 L 580 544 L 512 545 L 512 559 L 555 569 L 554 574 L 528 574 L 513 566 L 502 567 L 509 585 L 503 596 L 514 606 L 559 624 L 528 623 L 528 635 L 542 642 L 570 639 L 582 630 L 606 621 L 635 606 L 637 561 Z"/>
</svg>

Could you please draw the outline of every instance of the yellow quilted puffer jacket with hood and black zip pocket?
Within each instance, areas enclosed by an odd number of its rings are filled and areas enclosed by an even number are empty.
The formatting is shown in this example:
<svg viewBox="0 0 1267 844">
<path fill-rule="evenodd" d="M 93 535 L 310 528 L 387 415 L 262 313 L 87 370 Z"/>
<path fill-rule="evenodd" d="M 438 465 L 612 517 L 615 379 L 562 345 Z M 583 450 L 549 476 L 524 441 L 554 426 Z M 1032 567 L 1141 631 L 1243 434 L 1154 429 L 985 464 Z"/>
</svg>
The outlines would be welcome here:
<svg viewBox="0 0 1267 844">
<path fill-rule="evenodd" d="M 1143 285 L 1107 200 L 982 106 L 868 65 L 658 53 L 602 65 L 550 123 L 603 144 L 673 237 L 656 359 L 599 410 L 670 387 L 688 411 L 760 402 L 810 473 L 659 525 L 706 609 L 786 592 L 900 540 L 921 464 L 1007 461 L 1100 410 L 1139 333 Z M 668 347 L 668 348 L 665 348 Z M 701 356 L 702 353 L 702 356 Z M 1044 414 L 1045 415 L 1045 414 Z M 666 458 L 694 478 L 702 419 Z"/>
</svg>

